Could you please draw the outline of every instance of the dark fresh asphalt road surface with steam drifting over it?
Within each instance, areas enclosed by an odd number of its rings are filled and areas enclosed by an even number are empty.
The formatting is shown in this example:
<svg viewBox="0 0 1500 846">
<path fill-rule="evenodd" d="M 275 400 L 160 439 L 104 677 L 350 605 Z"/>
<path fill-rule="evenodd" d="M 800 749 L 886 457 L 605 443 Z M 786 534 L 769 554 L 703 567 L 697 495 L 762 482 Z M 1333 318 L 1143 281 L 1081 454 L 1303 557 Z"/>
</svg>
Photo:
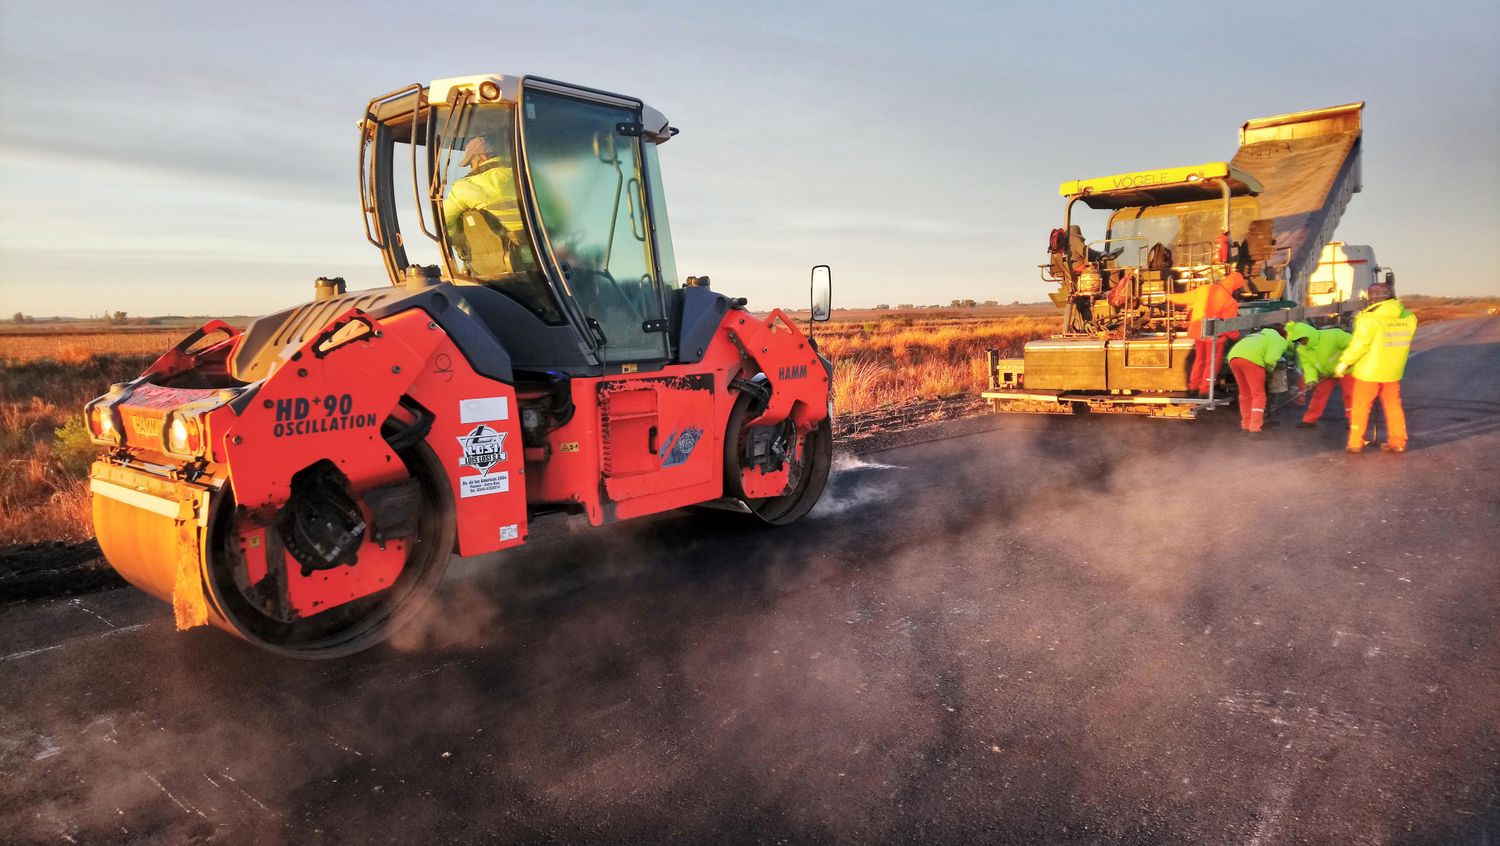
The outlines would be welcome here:
<svg viewBox="0 0 1500 846">
<path fill-rule="evenodd" d="M 1412 450 L 988 417 L 804 522 L 558 525 L 332 663 L 0 609 L 0 840 L 1500 842 L 1500 320 Z"/>
</svg>

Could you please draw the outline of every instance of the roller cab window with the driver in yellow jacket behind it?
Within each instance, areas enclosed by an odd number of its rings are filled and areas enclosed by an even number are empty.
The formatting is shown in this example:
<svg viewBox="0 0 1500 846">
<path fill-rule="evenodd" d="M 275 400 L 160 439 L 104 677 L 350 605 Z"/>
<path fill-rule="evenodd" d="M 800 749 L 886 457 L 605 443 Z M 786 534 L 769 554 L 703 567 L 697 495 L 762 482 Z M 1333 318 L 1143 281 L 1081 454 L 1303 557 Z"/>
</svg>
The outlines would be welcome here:
<svg viewBox="0 0 1500 846">
<path fill-rule="evenodd" d="M 434 129 L 430 188 L 453 274 L 519 300 L 548 322 L 561 322 L 520 208 L 514 106 L 436 106 Z"/>
</svg>

